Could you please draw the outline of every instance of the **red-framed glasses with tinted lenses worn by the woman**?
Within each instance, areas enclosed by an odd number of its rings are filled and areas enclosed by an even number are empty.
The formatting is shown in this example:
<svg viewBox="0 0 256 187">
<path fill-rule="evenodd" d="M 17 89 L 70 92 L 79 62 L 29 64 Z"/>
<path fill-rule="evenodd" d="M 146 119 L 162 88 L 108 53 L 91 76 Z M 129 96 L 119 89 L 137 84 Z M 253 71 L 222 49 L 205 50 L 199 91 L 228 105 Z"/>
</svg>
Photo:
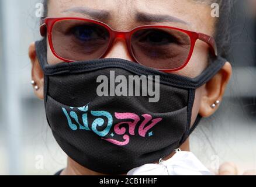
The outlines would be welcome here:
<svg viewBox="0 0 256 187">
<path fill-rule="evenodd" d="M 217 56 L 213 37 L 170 26 L 145 25 L 118 32 L 92 19 L 45 18 L 41 20 L 40 33 L 41 36 L 47 34 L 52 53 L 65 62 L 103 58 L 116 38 L 126 40 L 134 61 L 161 71 L 184 68 L 196 40 L 209 44 L 210 52 Z"/>
</svg>

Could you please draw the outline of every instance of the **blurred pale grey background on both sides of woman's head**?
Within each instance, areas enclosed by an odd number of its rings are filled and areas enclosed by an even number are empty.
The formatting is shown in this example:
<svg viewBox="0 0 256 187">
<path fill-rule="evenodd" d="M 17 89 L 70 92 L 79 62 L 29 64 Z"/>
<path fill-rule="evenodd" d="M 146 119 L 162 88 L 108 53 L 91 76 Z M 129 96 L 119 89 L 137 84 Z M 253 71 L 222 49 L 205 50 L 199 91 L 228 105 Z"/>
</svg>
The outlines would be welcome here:
<svg viewBox="0 0 256 187">
<path fill-rule="evenodd" d="M 39 0 L 0 0 L 0 175 L 53 175 L 66 165 L 30 85 L 27 49 L 40 39 Z M 233 77 L 223 102 L 191 136 L 191 151 L 215 170 L 225 161 L 256 169 L 255 0 L 236 1 L 230 61 Z"/>
</svg>

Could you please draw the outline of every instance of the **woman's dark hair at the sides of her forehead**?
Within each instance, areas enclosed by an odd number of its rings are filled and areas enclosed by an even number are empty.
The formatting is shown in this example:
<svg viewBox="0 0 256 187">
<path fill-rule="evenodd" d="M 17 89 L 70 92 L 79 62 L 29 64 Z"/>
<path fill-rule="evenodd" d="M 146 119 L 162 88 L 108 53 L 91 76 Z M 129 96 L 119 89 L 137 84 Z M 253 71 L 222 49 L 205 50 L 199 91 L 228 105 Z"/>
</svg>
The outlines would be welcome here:
<svg viewBox="0 0 256 187">
<path fill-rule="evenodd" d="M 194 0 L 198 3 L 211 5 L 212 3 L 219 4 L 219 18 L 216 22 L 215 30 L 215 40 L 217 44 L 217 49 L 219 56 L 224 58 L 228 57 L 230 49 L 230 23 L 231 23 L 231 9 L 233 8 L 234 0 Z M 43 0 L 44 5 L 44 15 L 47 15 L 47 2 L 48 0 Z"/>
</svg>

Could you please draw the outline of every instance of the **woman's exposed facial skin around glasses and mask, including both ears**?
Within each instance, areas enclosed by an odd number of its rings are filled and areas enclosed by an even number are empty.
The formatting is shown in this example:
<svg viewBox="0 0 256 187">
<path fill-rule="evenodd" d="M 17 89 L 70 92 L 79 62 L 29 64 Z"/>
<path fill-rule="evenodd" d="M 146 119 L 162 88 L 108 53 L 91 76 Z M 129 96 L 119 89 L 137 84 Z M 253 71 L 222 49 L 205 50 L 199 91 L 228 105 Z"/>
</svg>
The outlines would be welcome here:
<svg viewBox="0 0 256 187">
<path fill-rule="evenodd" d="M 49 17 L 75 16 L 95 19 L 118 31 L 129 31 L 137 26 L 157 24 L 213 36 L 215 23 L 219 19 L 211 16 L 212 9 L 208 1 L 199 3 L 196 0 L 50 0 L 48 9 L 47 16 Z M 49 64 L 60 63 L 61 60 L 53 55 L 49 44 L 47 45 L 47 60 Z M 33 50 L 33 47 L 30 48 L 30 53 Z M 31 57 L 33 56 L 30 54 Z M 188 65 L 182 70 L 172 73 L 191 78 L 196 77 L 207 67 L 208 57 L 209 48 L 207 44 L 198 40 Z M 105 58 L 123 58 L 133 61 L 127 50 L 126 43 L 122 39 L 115 40 Z M 37 79 L 42 74 L 36 72 L 41 71 L 39 69 L 33 68 L 33 79 Z M 219 74 L 212 78 L 211 81 L 196 89 L 191 124 L 195 122 L 198 113 L 203 117 L 207 117 L 215 112 L 217 107 L 212 109 L 210 106 L 216 100 L 222 99 L 230 75 L 231 66 L 226 63 Z M 41 85 L 39 85 L 40 89 L 35 93 L 39 98 L 43 98 L 43 78 L 38 79 L 38 84 Z"/>
</svg>

